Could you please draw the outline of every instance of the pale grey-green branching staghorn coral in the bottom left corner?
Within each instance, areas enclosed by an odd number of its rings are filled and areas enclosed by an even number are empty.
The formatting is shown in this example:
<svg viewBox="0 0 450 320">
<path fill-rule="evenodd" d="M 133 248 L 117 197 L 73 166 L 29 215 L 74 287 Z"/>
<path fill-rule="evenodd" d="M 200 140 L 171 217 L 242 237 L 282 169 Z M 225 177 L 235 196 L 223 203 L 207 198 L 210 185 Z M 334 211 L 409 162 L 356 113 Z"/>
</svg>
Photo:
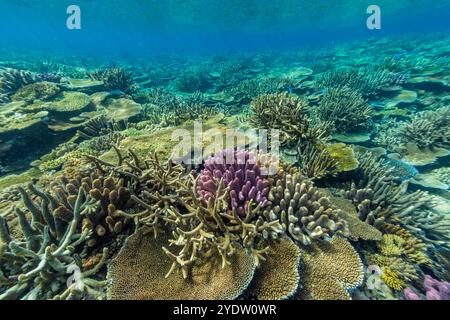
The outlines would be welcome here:
<svg viewBox="0 0 450 320">
<path fill-rule="evenodd" d="M 17 215 L 20 238 L 13 238 L 3 218 L 0 218 L 0 300 L 4 299 L 81 299 L 102 298 L 105 283 L 93 278 L 104 265 L 107 249 L 99 263 L 79 274 L 79 281 L 67 286 L 67 272 L 81 270 L 75 250 L 88 236 L 79 233 L 79 223 L 86 211 L 86 195 L 82 189 L 74 198 L 72 219 L 67 223 L 54 215 L 56 199 L 30 184 L 38 198 L 32 200 L 19 188 L 27 211 L 11 208 Z M 31 216 L 31 221 L 27 216 Z"/>
</svg>

